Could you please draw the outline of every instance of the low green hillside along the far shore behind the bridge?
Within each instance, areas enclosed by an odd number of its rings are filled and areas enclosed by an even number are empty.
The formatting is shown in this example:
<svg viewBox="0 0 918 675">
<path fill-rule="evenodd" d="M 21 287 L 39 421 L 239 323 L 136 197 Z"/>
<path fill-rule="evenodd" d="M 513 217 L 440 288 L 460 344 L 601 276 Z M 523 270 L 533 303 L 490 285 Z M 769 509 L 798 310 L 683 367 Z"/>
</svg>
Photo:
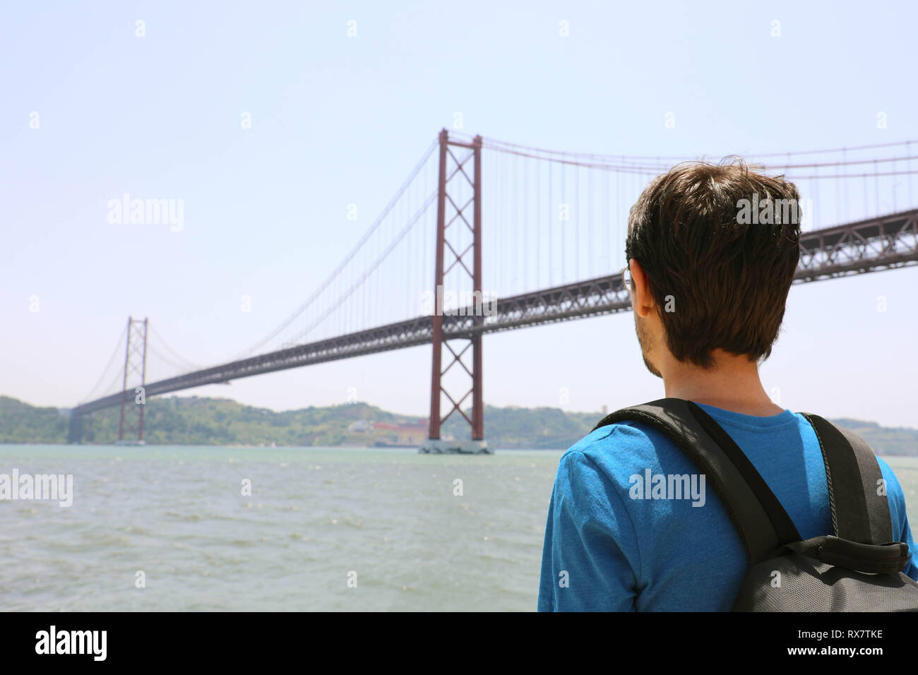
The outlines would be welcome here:
<svg viewBox="0 0 918 675">
<path fill-rule="evenodd" d="M 129 405 L 126 437 L 137 429 L 137 407 Z M 84 443 L 111 444 L 118 438 L 120 410 L 93 413 Z M 589 433 L 600 412 L 566 412 L 558 408 L 485 407 L 488 443 L 495 448 L 564 449 Z M 365 403 L 275 412 L 231 399 L 156 398 L 147 401 L 144 440 L 174 445 L 367 446 L 377 436 L 374 425 L 417 423 L 422 418 L 398 415 Z M 39 408 L 0 396 L 0 443 L 63 444 L 68 417 L 57 408 Z M 918 456 L 918 429 L 881 427 L 876 422 L 834 420 L 860 435 L 879 455 Z M 443 425 L 444 435 L 468 438 L 459 415 Z"/>
</svg>

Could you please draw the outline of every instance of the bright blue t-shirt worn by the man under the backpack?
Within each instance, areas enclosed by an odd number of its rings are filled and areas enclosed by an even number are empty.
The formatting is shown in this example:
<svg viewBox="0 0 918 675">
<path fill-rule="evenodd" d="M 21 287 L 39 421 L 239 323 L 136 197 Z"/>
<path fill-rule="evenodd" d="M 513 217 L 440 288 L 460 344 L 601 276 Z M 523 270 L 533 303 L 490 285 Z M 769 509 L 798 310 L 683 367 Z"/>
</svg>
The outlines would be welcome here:
<svg viewBox="0 0 918 675">
<path fill-rule="evenodd" d="M 802 538 L 832 534 L 823 454 L 810 422 L 788 410 L 755 417 L 701 408 L 743 449 Z M 892 534 L 909 545 L 904 572 L 918 579 L 905 497 L 878 461 Z M 729 611 L 748 557 L 699 474 L 676 444 L 642 422 L 600 427 L 567 450 L 545 526 L 539 611 Z"/>
</svg>

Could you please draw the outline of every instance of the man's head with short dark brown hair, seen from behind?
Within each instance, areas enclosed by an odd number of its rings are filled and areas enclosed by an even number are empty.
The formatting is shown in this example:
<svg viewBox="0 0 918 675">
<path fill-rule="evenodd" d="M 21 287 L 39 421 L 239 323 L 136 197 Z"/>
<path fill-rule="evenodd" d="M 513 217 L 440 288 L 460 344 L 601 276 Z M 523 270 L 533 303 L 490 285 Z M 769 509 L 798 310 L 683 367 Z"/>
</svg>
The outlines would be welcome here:
<svg viewBox="0 0 918 675">
<path fill-rule="evenodd" d="M 796 186 L 738 158 L 677 164 L 644 189 L 625 256 L 651 373 L 667 358 L 710 369 L 718 354 L 771 354 L 800 257 L 799 204 Z"/>
</svg>

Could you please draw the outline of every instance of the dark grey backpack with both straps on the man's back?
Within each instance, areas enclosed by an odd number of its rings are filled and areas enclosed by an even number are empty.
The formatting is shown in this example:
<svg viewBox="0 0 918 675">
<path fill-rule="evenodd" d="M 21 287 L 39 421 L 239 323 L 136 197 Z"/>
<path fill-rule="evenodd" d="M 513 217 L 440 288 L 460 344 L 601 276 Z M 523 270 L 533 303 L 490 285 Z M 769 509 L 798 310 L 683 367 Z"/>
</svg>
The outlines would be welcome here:
<svg viewBox="0 0 918 675">
<path fill-rule="evenodd" d="M 918 584 L 902 572 L 909 547 L 892 537 L 877 458 L 861 438 L 801 413 L 825 462 L 834 534 L 800 534 L 756 467 L 711 416 L 688 400 L 623 408 L 607 424 L 644 422 L 705 474 L 749 556 L 733 612 L 915 612 Z"/>
</svg>

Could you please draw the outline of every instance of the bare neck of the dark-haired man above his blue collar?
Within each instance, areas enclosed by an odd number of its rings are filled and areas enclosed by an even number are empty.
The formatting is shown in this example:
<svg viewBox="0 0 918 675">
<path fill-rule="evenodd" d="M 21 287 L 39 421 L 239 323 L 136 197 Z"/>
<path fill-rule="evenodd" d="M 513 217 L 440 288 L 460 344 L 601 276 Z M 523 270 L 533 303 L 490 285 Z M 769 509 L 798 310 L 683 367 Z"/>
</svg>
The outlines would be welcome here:
<svg viewBox="0 0 918 675">
<path fill-rule="evenodd" d="M 670 360 L 661 369 L 666 398 L 691 400 L 756 417 L 784 411 L 768 398 L 755 362 L 734 354 L 713 355 L 716 366 L 708 370 Z"/>
</svg>

